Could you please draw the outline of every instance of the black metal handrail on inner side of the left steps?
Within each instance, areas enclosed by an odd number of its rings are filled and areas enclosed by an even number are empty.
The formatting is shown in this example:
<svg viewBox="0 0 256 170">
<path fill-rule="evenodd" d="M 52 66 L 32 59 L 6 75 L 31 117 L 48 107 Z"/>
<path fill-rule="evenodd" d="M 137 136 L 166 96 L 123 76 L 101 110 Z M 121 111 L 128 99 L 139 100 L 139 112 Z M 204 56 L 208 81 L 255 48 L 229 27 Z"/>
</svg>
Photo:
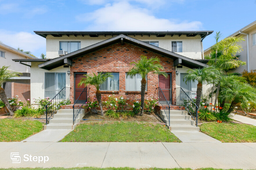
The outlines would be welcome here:
<svg viewBox="0 0 256 170">
<path fill-rule="evenodd" d="M 75 124 L 75 120 L 77 119 L 80 110 L 83 108 L 83 105 L 88 101 L 89 90 L 90 88 L 85 87 L 82 93 L 75 101 L 75 103 L 73 104 L 73 125 Z"/>
</svg>

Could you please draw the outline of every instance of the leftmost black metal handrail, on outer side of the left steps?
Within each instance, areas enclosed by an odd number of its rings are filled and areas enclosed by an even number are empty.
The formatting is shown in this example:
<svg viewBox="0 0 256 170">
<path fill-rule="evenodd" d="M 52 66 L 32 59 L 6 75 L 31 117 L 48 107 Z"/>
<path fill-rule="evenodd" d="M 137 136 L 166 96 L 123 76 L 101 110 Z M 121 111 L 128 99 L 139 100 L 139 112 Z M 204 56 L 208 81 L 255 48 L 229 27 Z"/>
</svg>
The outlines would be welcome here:
<svg viewBox="0 0 256 170">
<path fill-rule="evenodd" d="M 70 87 L 63 87 L 57 95 L 53 97 L 46 105 L 46 125 L 52 117 L 52 115 L 60 108 L 62 105 L 70 104 Z"/>
</svg>

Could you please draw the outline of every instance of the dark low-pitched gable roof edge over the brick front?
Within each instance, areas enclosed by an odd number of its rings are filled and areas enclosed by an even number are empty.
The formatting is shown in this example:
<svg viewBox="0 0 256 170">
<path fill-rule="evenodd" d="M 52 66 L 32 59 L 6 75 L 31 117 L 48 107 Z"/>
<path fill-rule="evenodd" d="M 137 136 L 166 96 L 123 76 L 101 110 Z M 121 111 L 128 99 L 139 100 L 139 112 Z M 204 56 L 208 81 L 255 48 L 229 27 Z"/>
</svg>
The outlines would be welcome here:
<svg viewBox="0 0 256 170">
<path fill-rule="evenodd" d="M 179 63 L 183 66 L 189 67 L 189 68 L 198 68 L 198 67 L 207 66 L 206 64 L 203 64 L 199 61 L 181 56 L 181 55 L 173 53 L 171 51 L 156 47 L 154 45 L 144 43 L 140 40 L 137 40 L 137 39 L 134 39 L 134 38 L 131 38 L 131 37 L 128 37 L 128 36 L 125 36 L 125 35 L 121 34 L 119 36 L 104 40 L 100 43 L 96 43 L 94 45 L 82 48 L 82 49 L 74 51 L 72 53 L 68 53 L 64 56 L 61 56 L 61 57 L 55 58 L 53 60 L 47 61 L 45 63 L 39 64 L 38 67 L 41 68 L 41 69 L 51 70 L 51 69 L 54 69 L 54 68 L 57 68 L 59 66 L 64 65 L 65 64 L 64 59 L 65 60 L 67 60 L 67 59 L 72 60 L 73 58 L 84 56 L 85 54 L 91 53 L 93 51 L 96 51 L 98 49 L 107 47 L 109 45 L 112 45 L 112 44 L 115 44 L 115 43 L 118 43 L 118 42 L 130 43 L 130 44 L 136 45 L 138 47 L 141 47 L 141 48 L 147 49 L 149 51 L 152 51 L 154 53 L 158 53 L 160 55 L 166 56 L 168 58 L 172 58 L 174 60 L 178 59 L 177 63 Z"/>
</svg>

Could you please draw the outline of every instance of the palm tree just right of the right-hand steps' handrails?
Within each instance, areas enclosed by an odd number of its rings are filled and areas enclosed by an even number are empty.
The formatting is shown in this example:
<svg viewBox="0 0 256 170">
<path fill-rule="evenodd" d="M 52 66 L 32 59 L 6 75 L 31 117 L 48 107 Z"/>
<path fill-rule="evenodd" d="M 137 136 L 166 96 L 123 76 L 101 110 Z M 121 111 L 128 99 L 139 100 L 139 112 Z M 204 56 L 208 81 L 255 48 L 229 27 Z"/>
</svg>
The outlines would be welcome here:
<svg viewBox="0 0 256 170">
<path fill-rule="evenodd" d="M 183 78 L 185 83 L 187 81 L 197 81 L 197 89 L 196 89 L 196 106 L 200 106 L 203 83 L 210 83 L 212 80 L 216 79 L 220 72 L 214 67 L 203 67 L 199 69 L 189 69 L 188 74 Z"/>
</svg>

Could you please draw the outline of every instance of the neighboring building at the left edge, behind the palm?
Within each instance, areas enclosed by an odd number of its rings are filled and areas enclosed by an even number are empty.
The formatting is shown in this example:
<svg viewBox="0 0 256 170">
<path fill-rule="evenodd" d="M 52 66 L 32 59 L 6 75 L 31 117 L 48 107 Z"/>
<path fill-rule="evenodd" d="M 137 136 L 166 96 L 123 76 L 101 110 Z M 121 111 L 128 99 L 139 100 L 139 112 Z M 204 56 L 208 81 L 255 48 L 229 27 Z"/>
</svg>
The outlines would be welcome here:
<svg viewBox="0 0 256 170">
<path fill-rule="evenodd" d="M 22 64 L 12 59 L 33 60 L 36 57 L 30 56 L 22 51 L 0 43 L 0 67 L 9 66 L 10 70 L 22 73 L 20 77 L 14 77 L 11 82 L 3 84 L 7 97 L 19 96 L 21 100 L 30 99 L 30 63 Z"/>
</svg>

